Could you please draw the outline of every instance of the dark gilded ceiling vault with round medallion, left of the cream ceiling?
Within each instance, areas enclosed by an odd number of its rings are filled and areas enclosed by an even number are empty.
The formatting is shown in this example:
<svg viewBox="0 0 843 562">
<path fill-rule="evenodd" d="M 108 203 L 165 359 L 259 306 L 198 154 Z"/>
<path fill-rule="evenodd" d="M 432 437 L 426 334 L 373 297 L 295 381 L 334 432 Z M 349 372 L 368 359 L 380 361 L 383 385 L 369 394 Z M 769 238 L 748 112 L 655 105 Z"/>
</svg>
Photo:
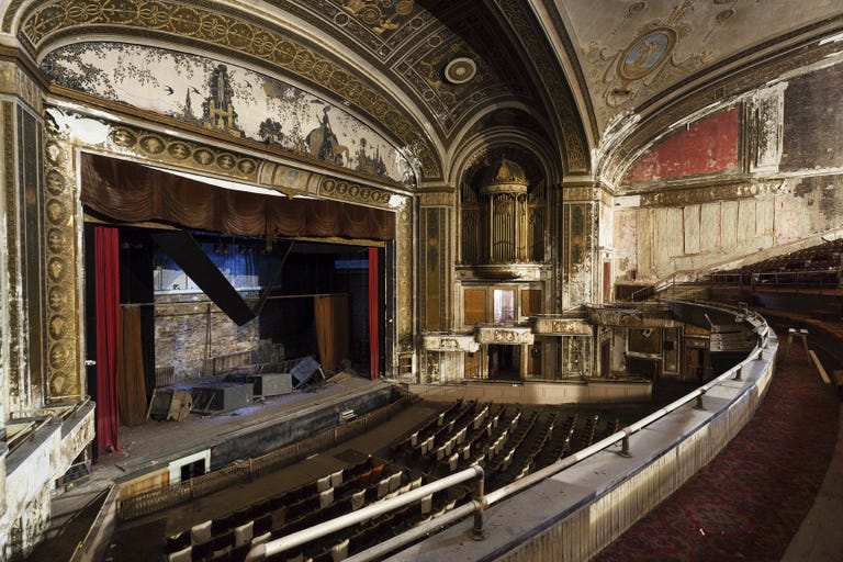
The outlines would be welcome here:
<svg viewBox="0 0 843 562">
<path fill-rule="evenodd" d="M 98 34 L 290 77 L 391 136 L 419 162 L 423 181 L 442 176 L 445 155 L 477 115 L 504 105 L 529 109 L 547 124 L 539 133 L 560 156 L 571 151 L 560 138 L 571 136 L 576 167 L 585 166 L 573 98 L 526 3 L 270 0 L 258 10 L 202 0 L 18 1 L 3 29 L 12 32 L 15 22 L 38 60 L 71 37 Z M 552 94 L 535 79 L 539 72 L 558 87 Z M 564 126 L 554 127 L 560 104 Z"/>
</svg>

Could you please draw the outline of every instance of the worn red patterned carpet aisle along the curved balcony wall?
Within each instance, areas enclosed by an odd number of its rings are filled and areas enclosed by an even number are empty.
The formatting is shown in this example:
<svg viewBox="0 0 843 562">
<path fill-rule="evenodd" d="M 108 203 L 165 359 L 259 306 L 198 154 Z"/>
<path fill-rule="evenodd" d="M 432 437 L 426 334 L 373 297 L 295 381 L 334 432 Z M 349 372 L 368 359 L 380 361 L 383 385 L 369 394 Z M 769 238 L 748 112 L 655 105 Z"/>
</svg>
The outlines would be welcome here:
<svg viewBox="0 0 843 562">
<path fill-rule="evenodd" d="M 822 484 L 839 409 L 802 347 L 783 338 L 767 396 L 746 427 L 595 560 L 780 560 Z"/>
</svg>

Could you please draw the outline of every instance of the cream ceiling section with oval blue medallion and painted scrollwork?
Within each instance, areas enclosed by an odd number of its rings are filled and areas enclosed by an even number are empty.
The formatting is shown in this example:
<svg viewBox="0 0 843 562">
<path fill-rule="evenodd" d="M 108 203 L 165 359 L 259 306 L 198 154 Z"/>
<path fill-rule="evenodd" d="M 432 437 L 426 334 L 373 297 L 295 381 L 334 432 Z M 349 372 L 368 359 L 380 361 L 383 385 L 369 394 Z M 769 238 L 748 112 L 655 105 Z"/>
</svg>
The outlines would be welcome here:
<svg viewBox="0 0 843 562">
<path fill-rule="evenodd" d="M 589 0 L 557 2 L 577 45 L 598 128 L 794 30 L 840 16 L 839 0 Z M 784 14 L 787 14 L 784 16 Z"/>
</svg>

